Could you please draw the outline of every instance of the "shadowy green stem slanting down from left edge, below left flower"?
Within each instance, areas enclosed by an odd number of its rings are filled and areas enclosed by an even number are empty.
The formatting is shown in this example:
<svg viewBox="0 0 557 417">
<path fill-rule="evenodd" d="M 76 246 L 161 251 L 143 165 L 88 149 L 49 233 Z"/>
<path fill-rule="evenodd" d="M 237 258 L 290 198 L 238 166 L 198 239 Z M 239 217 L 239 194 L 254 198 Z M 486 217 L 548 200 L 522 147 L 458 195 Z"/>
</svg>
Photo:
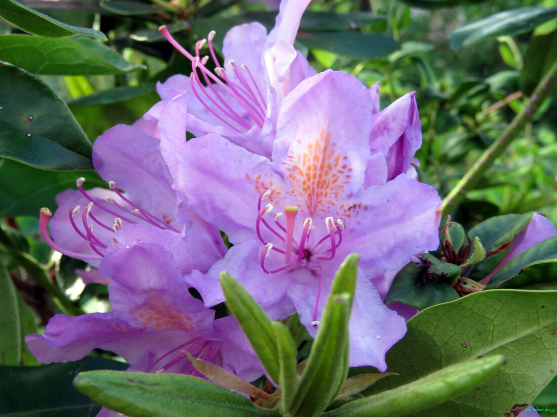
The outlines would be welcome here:
<svg viewBox="0 0 557 417">
<path fill-rule="evenodd" d="M 0 227 L 0 247 L 3 247 L 19 265 L 27 271 L 27 274 L 47 291 L 48 294 L 54 297 L 54 300 L 60 310 L 72 316 L 79 316 L 85 314 L 80 307 L 76 306 L 57 285 L 53 284 L 48 275 L 46 274 L 45 267 L 41 265 L 33 256 L 19 251 L 12 245 L 8 235 Z"/>
</svg>

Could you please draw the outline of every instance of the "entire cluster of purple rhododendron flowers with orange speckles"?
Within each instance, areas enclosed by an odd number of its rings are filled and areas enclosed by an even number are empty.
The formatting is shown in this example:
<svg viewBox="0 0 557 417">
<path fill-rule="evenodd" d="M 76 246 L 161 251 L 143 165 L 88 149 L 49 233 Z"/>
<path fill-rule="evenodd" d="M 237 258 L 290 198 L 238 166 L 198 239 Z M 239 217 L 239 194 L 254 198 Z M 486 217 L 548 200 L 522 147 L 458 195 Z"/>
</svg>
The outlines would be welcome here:
<svg viewBox="0 0 557 417">
<path fill-rule="evenodd" d="M 298 314 L 315 335 L 335 271 L 357 252 L 350 366 L 387 369 L 406 327 L 375 285 L 438 247 L 441 200 L 411 166 L 422 140 L 414 94 L 380 110 L 378 85 L 316 74 L 294 48 L 308 3 L 283 1 L 269 34 L 257 22 L 233 27 L 223 63 L 213 32 L 187 51 L 160 29 L 191 75 L 160 84 L 161 101 L 134 126 L 97 138 L 106 189 L 79 178 L 53 216 L 41 213 L 53 249 L 98 269 L 87 277 L 108 283 L 111 311 L 53 317 L 26 339 L 39 360 L 99 347 L 131 370 L 201 376 L 187 351 L 254 380 L 264 370 L 236 320 L 214 319 L 219 273 L 272 319 Z"/>
</svg>

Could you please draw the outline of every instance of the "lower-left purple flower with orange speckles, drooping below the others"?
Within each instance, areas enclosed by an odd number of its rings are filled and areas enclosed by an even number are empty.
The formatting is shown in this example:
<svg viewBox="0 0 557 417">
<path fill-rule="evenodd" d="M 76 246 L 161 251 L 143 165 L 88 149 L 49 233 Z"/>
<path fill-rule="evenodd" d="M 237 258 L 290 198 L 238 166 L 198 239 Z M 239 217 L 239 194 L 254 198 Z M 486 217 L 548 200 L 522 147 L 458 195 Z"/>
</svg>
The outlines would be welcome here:
<svg viewBox="0 0 557 417">
<path fill-rule="evenodd" d="M 176 261 L 173 232 L 131 225 L 116 233 L 100 262 L 110 279 L 112 311 L 69 317 L 58 314 L 44 335 L 28 335 L 43 363 L 83 358 L 92 349 L 113 351 L 130 370 L 198 375 L 180 350 L 256 379 L 261 365 L 233 317 L 213 320 L 214 311 L 194 299 Z M 158 243 L 162 242 L 162 243 Z M 199 375 L 198 375 L 199 376 Z"/>
</svg>

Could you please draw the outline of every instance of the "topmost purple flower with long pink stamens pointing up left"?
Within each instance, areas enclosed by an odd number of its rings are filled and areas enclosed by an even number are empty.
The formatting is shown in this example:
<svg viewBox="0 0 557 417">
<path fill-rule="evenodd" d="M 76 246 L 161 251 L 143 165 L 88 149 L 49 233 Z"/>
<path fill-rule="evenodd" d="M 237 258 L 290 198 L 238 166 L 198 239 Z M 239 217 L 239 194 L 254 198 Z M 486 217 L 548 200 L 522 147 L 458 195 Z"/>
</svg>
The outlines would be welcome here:
<svg viewBox="0 0 557 417">
<path fill-rule="evenodd" d="M 304 78 L 315 75 L 307 59 L 294 48 L 300 19 L 309 0 L 280 4 L 275 28 L 267 35 L 258 23 L 231 28 L 223 43 L 224 62 L 214 51 L 215 32 L 196 43 L 194 53 L 163 35 L 192 62 L 189 77 L 175 75 L 157 86 L 163 100 L 189 92 L 188 131 L 196 136 L 217 133 L 246 149 L 270 156 L 278 108 Z M 208 54 L 202 56 L 207 45 Z M 214 71 L 206 67 L 211 59 Z"/>
</svg>

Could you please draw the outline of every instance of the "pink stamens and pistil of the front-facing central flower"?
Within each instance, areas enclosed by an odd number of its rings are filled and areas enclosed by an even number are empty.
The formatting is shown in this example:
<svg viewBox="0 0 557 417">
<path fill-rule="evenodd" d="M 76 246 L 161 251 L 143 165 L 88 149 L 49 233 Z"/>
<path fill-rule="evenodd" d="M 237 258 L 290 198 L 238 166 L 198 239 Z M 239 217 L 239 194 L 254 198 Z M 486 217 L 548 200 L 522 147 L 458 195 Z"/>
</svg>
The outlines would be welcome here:
<svg viewBox="0 0 557 417">
<path fill-rule="evenodd" d="M 258 239 L 263 245 L 265 245 L 261 252 L 261 269 L 265 272 L 265 274 L 276 274 L 277 272 L 294 269 L 296 266 L 305 266 L 318 273 L 319 283 L 317 285 L 314 320 L 311 323 L 313 326 L 317 326 L 319 325 L 319 321 L 317 321 L 317 307 L 319 306 L 319 299 L 321 295 L 322 278 L 321 266 L 318 261 L 330 261 L 334 259 L 336 250 L 340 246 L 343 239 L 344 223 L 340 219 L 337 219 L 335 222 L 333 217 L 326 217 L 325 226 L 328 233 L 321 237 L 315 245 L 311 245 L 310 235 L 311 231 L 315 230 L 315 226 L 313 225 L 311 217 L 307 217 L 304 220 L 304 227 L 302 229 L 300 240 L 297 241 L 294 237 L 294 229 L 298 208 L 295 206 L 286 206 L 284 214 L 282 212 L 278 212 L 273 215 L 272 225 L 265 220 L 265 217 L 269 214 L 273 214 L 273 205 L 269 203 L 265 207 L 262 207 L 262 202 L 270 195 L 271 190 L 267 190 L 260 195 L 257 202 L 256 233 Z M 280 222 L 282 216 L 286 217 L 285 226 L 283 226 Z M 265 226 L 275 238 L 282 241 L 284 249 L 275 247 L 275 245 L 263 238 L 261 225 Z M 330 246 L 328 249 L 324 249 L 324 245 L 327 241 L 329 241 Z M 271 254 L 272 250 L 284 255 L 284 265 L 273 270 L 268 270 L 265 266 L 265 259 Z"/>
</svg>

